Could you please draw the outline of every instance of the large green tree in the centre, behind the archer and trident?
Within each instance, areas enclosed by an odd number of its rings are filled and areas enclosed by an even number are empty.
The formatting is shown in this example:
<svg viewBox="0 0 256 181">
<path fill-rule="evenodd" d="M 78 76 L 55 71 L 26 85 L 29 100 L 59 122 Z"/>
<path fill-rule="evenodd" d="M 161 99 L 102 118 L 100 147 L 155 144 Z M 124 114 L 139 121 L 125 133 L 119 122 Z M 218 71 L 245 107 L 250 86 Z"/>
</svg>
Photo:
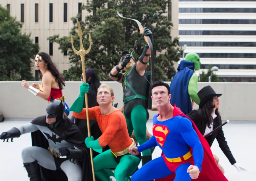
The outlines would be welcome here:
<svg viewBox="0 0 256 181">
<path fill-rule="evenodd" d="M 153 23 L 148 27 L 153 33 L 154 47 L 154 73 L 155 80 L 170 80 L 175 74 L 173 61 L 179 61 L 179 40 L 175 38 L 171 41 L 170 31 L 172 23 L 168 21 L 166 6 L 170 0 L 91 0 L 81 8 L 86 9 L 90 15 L 86 16 L 84 22 L 80 22 L 83 30 L 83 45 L 85 49 L 89 47 L 88 35 L 92 37 L 91 51 L 85 56 L 85 66 L 95 69 L 101 80 L 110 80 L 108 73 L 118 64 L 118 56 L 124 50 L 132 51 L 134 45 L 140 37 L 138 25 L 132 20 L 125 20 L 117 15 L 117 10 L 124 16 L 136 19 L 143 27 L 147 27 L 152 16 L 157 12 Z M 79 49 L 80 42 L 77 36 L 78 20 L 81 14 L 72 17 L 74 27 L 70 34 L 74 39 L 74 46 Z M 65 80 L 79 80 L 82 72 L 80 57 L 75 55 L 70 43 L 70 36 L 59 37 L 55 35 L 49 37 L 50 41 L 59 43 L 59 49 L 68 51 L 71 68 L 64 73 Z M 145 46 L 142 37 L 133 51 L 135 60 Z M 156 57 L 156 52 L 165 53 Z M 150 70 L 149 66 L 149 70 Z"/>
</svg>

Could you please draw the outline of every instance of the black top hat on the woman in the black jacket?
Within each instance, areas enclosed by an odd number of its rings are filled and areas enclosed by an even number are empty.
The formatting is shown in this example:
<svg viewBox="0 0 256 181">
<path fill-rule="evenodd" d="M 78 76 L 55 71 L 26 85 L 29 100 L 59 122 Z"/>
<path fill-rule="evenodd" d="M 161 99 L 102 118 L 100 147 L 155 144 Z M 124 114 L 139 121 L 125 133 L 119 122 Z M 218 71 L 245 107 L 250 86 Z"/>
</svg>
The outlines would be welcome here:
<svg viewBox="0 0 256 181">
<path fill-rule="evenodd" d="M 201 90 L 199 90 L 197 95 L 200 99 L 199 108 L 202 108 L 202 106 L 205 104 L 206 101 L 208 101 L 209 99 L 215 96 L 220 97 L 222 94 L 216 94 L 214 89 L 210 85 L 207 85 L 203 87 Z"/>
</svg>

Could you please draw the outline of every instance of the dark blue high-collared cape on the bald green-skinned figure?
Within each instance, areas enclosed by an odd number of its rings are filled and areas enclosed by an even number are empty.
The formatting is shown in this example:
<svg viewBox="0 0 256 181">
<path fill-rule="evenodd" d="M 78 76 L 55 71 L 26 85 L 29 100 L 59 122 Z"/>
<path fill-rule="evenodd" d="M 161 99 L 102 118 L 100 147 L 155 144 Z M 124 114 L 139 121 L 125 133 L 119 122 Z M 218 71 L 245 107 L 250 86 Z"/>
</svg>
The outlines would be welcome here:
<svg viewBox="0 0 256 181">
<path fill-rule="evenodd" d="M 194 74 L 195 64 L 182 60 L 178 72 L 170 84 L 171 104 L 175 104 L 186 115 L 192 111 L 191 99 L 188 94 L 188 83 Z"/>
</svg>

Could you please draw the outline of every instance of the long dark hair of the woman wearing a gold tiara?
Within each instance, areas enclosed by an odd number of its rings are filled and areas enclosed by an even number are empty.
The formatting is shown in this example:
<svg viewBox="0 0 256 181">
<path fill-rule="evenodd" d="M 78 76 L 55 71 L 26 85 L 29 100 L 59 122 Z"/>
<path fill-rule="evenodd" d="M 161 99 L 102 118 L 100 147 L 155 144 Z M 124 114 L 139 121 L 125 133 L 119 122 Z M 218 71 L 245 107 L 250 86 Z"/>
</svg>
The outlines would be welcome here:
<svg viewBox="0 0 256 181">
<path fill-rule="evenodd" d="M 55 81 L 59 84 L 59 88 L 62 90 L 63 87 L 65 86 L 65 80 L 61 76 L 59 70 L 54 65 L 51 57 L 45 52 L 40 52 L 38 53 L 38 55 L 41 56 L 44 62 L 48 64 L 47 65 L 48 70 L 53 74 L 53 76 L 55 77 Z M 38 72 L 39 72 L 40 79 L 42 79 L 43 77 L 42 72 L 40 70 L 38 70 Z"/>
</svg>

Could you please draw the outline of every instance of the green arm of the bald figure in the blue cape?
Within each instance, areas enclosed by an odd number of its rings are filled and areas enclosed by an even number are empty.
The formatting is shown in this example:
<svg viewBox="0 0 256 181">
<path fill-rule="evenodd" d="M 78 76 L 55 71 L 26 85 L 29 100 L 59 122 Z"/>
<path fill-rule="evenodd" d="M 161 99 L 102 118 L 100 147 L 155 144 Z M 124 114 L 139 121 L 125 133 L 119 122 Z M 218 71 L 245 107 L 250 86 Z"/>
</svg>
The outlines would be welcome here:
<svg viewBox="0 0 256 181">
<path fill-rule="evenodd" d="M 194 73 L 188 82 L 188 94 L 192 99 L 192 101 L 194 101 L 197 105 L 199 105 L 200 99 L 197 96 L 197 82 L 198 82 L 198 77 L 196 73 Z"/>
</svg>

